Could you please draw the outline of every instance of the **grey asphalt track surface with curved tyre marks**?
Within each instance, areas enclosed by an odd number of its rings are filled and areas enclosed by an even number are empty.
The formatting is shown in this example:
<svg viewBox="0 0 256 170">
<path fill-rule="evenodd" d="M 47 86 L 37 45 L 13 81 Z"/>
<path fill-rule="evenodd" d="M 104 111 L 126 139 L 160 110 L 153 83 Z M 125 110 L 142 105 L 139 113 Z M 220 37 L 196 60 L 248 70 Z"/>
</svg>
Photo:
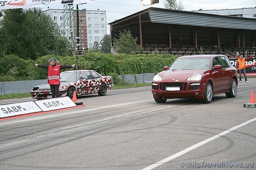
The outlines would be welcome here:
<svg viewBox="0 0 256 170">
<path fill-rule="evenodd" d="M 248 81 L 239 83 L 236 98 L 220 94 L 210 104 L 159 104 L 151 87 L 139 87 L 79 97 L 85 107 L 2 120 L 0 169 L 177 170 L 189 162 L 255 169 L 256 108 L 243 104 L 256 94 L 256 78 Z"/>
</svg>

